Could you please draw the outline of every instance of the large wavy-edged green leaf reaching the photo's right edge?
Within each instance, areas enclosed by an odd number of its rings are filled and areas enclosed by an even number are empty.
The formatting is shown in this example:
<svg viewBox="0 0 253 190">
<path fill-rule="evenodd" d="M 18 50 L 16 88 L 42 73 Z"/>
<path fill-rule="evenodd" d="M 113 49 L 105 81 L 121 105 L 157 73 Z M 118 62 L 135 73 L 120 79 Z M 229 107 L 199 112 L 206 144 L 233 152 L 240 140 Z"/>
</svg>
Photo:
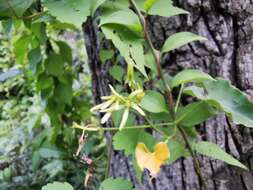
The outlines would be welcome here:
<svg viewBox="0 0 253 190">
<path fill-rule="evenodd" d="M 224 111 L 235 124 L 253 127 L 253 102 L 243 92 L 224 79 L 206 81 L 203 85 L 204 90 L 188 88 L 186 93 Z"/>
</svg>

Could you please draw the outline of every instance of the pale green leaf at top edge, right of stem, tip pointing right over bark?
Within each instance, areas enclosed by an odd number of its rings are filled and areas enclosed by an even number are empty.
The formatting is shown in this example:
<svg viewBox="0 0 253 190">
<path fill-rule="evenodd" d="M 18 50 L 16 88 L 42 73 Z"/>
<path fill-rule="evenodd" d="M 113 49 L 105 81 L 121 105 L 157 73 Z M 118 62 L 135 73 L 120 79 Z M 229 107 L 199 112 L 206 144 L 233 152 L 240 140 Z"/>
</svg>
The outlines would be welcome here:
<svg viewBox="0 0 253 190">
<path fill-rule="evenodd" d="M 151 7 L 150 7 L 150 5 L 151 5 Z M 145 4 L 144 4 L 144 6 L 145 6 Z M 147 4 L 146 4 L 146 6 L 147 6 Z M 159 16 L 164 16 L 164 17 L 171 17 L 171 16 L 180 15 L 180 14 L 189 14 L 188 11 L 185 11 L 181 8 L 173 6 L 171 0 L 157 0 L 155 2 L 150 3 L 148 8 L 149 9 L 148 9 L 147 13 L 149 15 L 159 15 Z"/>
</svg>

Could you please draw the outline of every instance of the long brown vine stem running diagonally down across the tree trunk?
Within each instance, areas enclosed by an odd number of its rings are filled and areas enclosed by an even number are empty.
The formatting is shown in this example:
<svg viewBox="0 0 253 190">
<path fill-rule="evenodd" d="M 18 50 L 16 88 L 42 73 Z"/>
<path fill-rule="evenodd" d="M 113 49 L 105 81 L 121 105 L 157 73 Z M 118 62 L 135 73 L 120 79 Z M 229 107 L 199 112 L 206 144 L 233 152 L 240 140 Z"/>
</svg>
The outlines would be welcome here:
<svg viewBox="0 0 253 190">
<path fill-rule="evenodd" d="M 166 97 L 167 97 L 167 102 L 168 102 L 168 107 L 169 107 L 169 110 L 170 110 L 170 114 L 171 114 L 171 117 L 173 119 L 173 121 L 175 122 L 176 120 L 176 112 L 175 112 L 175 109 L 174 109 L 174 100 L 173 100 L 173 96 L 172 96 L 172 93 L 171 93 L 171 89 L 170 87 L 167 85 L 167 82 L 165 80 L 165 77 L 163 75 L 163 72 L 162 72 L 162 67 L 161 67 L 161 52 L 159 52 L 158 50 L 156 50 L 153 46 L 153 43 L 151 41 L 151 38 L 148 34 L 148 30 L 147 30 L 147 26 L 146 26 L 146 20 L 144 18 L 144 16 L 142 15 L 140 9 L 138 8 L 138 6 L 136 5 L 135 1 L 134 0 L 129 0 L 130 4 L 133 6 L 134 10 L 136 11 L 138 17 L 139 17 L 139 20 L 140 20 L 140 23 L 143 27 L 143 32 L 144 32 L 144 37 L 145 37 L 145 40 L 147 41 L 151 51 L 152 51 L 152 54 L 154 56 L 154 59 L 155 59 L 155 63 L 156 63 L 156 68 L 157 68 L 157 73 L 158 73 L 158 76 L 161 78 L 162 80 L 162 83 L 164 85 L 164 88 L 165 88 L 165 92 L 166 92 Z M 177 106 L 178 107 L 178 106 Z M 193 163 L 194 163 L 194 168 L 195 168 L 195 171 L 203 185 L 203 188 L 205 190 L 207 190 L 207 185 L 206 185 L 206 182 L 205 182 L 205 179 L 201 173 L 201 169 L 200 169 L 200 164 L 199 164 L 199 160 L 197 159 L 196 157 L 196 153 L 193 151 L 193 148 L 191 147 L 191 144 L 188 140 L 188 137 L 185 133 L 185 131 L 183 130 L 183 128 L 181 128 L 179 125 L 177 125 L 177 128 L 179 129 L 179 132 L 181 133 L 181 136 L 182 138 L 184 139 L 189 151 L 190 151 L 190 154 L 193 158 Z"/>
</svg>

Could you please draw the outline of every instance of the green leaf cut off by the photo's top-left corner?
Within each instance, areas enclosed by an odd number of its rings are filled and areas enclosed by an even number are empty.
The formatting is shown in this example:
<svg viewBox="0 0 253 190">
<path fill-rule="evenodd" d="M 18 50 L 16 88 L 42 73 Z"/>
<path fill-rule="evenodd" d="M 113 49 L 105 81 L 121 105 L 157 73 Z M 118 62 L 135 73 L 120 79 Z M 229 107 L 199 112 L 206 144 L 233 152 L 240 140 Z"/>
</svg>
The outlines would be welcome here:
<svg viewBox="0 0 253 190">
<path fill-rule="evenodd" d="M 32 3 L 33 0 L 2 0 L 0 3 L 0 19 L 1 17 L 22 17 Z"/>
</svg>

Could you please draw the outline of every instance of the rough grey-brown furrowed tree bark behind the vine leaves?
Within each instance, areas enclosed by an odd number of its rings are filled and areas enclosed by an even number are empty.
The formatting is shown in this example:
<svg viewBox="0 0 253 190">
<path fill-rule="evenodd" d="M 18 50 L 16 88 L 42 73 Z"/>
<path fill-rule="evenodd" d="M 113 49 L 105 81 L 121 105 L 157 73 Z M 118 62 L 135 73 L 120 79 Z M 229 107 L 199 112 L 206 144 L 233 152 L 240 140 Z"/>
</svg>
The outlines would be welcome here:
<svg viewBox="0 0 253 190">
<path fill-rule="evenodd" d="M 253 1 L 252 0 L 176 0 L 175 4 L 188 10 L 191 15 L 173 19 L 150 17 L 149 29 L 157 48 L 177 31 L 192 31 L 208 38 L 206 42 L 188 45 L 165 56 L 163 67 L 169 73 L 185 68 L 198 68 L 230 80 L 238 88 L 253 96 Z M 90 22 L 84 27 L 90 69 L 93 79 L 95 102 L 108 94 L 110 81 L 108 68 L 101 65 L 97 28 Z M 92 25 L 93 24 L 93 25 Z M 211 119 L 200 126 L 201 138 L 219 144 L 251 170 L 253 167 L 252 130 L 236 126 L 224 115 Z M 199 156 L 201 169 L 209 189 L 252 190 L 252 172 L 245 172 L 223 162 Z M 122 152 L 113 152 L 111 172 L 114 177 L 125 177 L 136 184 L 132 164 Z M 163 167 L 156 182 L 150 184 L 147 177 L 140 190 L 198 190 L 191 158 L 180 159 Z"/>
</svg>

